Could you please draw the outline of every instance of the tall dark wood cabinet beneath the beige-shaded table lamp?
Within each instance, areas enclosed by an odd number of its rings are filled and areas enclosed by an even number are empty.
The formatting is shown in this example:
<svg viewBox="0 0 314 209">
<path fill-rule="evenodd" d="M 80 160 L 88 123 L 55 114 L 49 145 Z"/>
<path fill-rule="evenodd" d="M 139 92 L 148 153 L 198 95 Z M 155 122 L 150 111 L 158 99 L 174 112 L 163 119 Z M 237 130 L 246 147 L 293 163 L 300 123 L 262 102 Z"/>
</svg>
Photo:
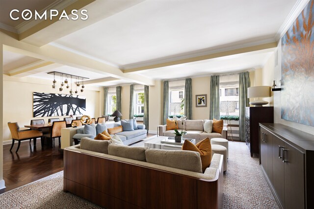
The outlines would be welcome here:
<svg viewBox="0 0 314 209">
<path fill-rule="evenodd" d="M 259 123 L 274 122 L 274 107 L 245 108 L 245 142 L 253 153 L 260 154 Z"/>
</svg>

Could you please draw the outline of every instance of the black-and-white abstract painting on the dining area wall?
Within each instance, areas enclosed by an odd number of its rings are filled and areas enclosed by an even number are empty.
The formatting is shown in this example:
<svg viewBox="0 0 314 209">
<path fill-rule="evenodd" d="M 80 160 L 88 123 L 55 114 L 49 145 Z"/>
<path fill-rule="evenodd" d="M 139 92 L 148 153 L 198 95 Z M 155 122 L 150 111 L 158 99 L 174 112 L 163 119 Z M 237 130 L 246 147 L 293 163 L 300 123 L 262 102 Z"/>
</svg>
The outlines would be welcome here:
<svg viewBox="0 0 314 209">
<path fill-rule="evenodd" d="M 86 99 L 81 95 L 33 93 L 33 116 L 84 115 Z"/>
</svg>

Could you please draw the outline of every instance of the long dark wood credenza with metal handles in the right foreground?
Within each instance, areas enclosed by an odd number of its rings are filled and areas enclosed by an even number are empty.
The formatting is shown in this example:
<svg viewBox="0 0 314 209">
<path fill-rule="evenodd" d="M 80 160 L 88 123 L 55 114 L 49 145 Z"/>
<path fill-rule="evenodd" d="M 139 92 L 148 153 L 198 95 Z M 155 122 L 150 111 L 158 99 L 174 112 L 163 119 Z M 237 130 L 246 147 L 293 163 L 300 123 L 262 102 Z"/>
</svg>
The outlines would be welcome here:
<svg viewBox="0 0 314 209">
<path fill-rule="evenodd" d="M 314 135 L 261 123 L 260 153 L 262 171 L 280 207 L 314 209 Z"/>
</svg>

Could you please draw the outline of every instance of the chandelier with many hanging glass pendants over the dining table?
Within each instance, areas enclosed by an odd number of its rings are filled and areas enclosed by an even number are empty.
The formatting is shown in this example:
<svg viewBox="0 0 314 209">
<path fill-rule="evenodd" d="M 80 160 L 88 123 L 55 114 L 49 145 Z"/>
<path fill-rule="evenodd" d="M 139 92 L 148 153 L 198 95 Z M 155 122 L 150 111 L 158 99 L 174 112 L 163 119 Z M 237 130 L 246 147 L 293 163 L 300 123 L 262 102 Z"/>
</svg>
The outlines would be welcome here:
<svg viewBox="0 0 314 209">
<path fill-rule="evenodd" d="M 78 88 L 80 87 L 81 90 L 80 92 L 84 92 L 84 79 L 89 79 L 86 77 L 82 77 L 82 76 L 78 76 L 78 75 L 71 75 L 71 74 L 67 74 L 67 73 L 63 73 L 63 72 L 57 72 L 57 71 L 53 71 L 53 72 L 48 72 L 47 74 L 53 75 L 53 81 L 52 81 L 52 89 L 56 88 L 56 84 L 57 81 L 55 80 L 55 76 L 59 76 L 60 77 L 60 88 L 59 91 L 62 92 L 63 91 L 63 86 L 66 84 L 66 88 L 69 89 L 70 88 L 70 94 L 73 94 L 72 91 L 72 83 L 73 80 L 75 81 L 75 93 L 78 93 Z M 70 85 L 69 85 L 70 84 Z"/>
</svg>

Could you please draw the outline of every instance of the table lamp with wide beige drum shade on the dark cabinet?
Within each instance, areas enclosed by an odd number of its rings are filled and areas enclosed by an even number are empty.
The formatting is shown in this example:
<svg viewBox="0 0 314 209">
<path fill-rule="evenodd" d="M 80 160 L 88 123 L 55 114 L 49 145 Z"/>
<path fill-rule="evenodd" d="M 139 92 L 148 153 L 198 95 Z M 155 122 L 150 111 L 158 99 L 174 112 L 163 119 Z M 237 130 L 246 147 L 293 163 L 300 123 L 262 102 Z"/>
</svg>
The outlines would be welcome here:
<svg viewBox="0 0 314 209">
<path fill-rule="evenodd" d="M 268 104 L 267 101 L 261 100 L 260 98 L 270 96 L 270 86 L 254 86 L 247 88 L 247 97 L 248 98 L 258 98 L 250 102 L 251 105 L 255 107 L 262 107 L 263 105 Z"/>
</svg>

